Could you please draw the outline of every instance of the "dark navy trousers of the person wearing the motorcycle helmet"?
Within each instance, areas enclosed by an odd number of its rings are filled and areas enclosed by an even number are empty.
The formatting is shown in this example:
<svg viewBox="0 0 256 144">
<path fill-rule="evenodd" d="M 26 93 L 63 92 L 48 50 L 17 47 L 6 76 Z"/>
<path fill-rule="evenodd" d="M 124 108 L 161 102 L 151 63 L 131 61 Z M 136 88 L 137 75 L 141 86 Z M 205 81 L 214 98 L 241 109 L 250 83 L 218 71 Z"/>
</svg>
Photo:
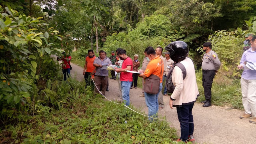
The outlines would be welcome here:
<svg viewBox="0 0 256 144">
<path fill-rule="evenodd" d="M 180 122 L 180 139 L 185 142 L 188 135 L 194 133 L 194 120 L 192 115 L 194 103 L 177 107 L 178 119 Z"/>
</svg>

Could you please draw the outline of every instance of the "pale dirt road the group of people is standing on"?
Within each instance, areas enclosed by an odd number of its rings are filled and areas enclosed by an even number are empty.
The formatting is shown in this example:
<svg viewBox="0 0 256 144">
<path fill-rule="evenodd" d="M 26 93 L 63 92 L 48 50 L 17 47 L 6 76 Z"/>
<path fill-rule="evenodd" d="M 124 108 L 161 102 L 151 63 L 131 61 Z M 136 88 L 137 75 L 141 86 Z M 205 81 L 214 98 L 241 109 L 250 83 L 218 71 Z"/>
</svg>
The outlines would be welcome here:
<svg viewBox="0 0 256 144">
<path fill-rule="evenodd" d="M 84 80 L 82 75 L 83 68 L 72 64 L 71 74 L 76 75 L 76 79 Z M 109 79 L 109 92 L 106 92 L 106 97 L 113 100 L 117 99 L 118 81 Z M 145 98 L 140 98 L 142 89 L 130 90 L 130 102 L 136 108 L 148 113 L 148 108 L 145 103 Z M 171 126 L 178 130 L 180 136 L 180 123 L 176 109 L 169 107 L 169 97 L 164 96 L 165 108 L 159 110 L 160 116 L 166 116 L 166 120 Z M 242 110 L 231 109 L 228 107 L 211 106 L 208 108 L 202 107 L 202 104 L 195 103 L 193 108 L 194 116 L 194 137 L 196 142 L 200 144 L 255 144 L 256 124 L 252 124 L 248 119 L 242 120 L 239 118 L 244 112 Z"/>
</svg>

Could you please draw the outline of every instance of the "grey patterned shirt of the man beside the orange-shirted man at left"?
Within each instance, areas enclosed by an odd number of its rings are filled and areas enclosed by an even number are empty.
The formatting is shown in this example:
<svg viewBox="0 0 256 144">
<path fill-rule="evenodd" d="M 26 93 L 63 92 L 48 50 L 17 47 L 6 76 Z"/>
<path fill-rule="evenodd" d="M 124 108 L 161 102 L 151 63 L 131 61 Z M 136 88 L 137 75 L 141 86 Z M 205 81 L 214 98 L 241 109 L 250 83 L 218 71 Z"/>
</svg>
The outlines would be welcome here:
<svg viewBox="0 0 256 144">
<path fill-rule="evenodd" d="M 109 58 L 105 58 L 104 60 L 101 60 L 100 57 L 95 58 L 93 64 L 109 64 L 111 65 L 112 62 L 110 61 Z M 95 76 L 108 76 L 108 70 L 104 69 L 102 70 L 100 67 L 96 68 L 96 73 Z"/>
</svg>

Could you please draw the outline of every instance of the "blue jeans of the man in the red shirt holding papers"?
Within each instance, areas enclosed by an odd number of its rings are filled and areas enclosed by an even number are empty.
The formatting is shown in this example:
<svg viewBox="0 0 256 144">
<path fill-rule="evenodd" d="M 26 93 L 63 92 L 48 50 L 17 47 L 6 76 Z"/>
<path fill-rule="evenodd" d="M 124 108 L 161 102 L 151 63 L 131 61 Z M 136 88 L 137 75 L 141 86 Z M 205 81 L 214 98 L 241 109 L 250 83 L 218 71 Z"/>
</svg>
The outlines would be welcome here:
<svg viewBox="0 0 256 144">
<path fill-rule="evenodd" d="M 132 82 L 129 82 L 129 80 L 121 81 L 121 88 L 122 88 L 122 99 L 124 100 L 124 103 L 126 106 L 130 105 L 130 87 L 132 85 Z"/>
</svg>

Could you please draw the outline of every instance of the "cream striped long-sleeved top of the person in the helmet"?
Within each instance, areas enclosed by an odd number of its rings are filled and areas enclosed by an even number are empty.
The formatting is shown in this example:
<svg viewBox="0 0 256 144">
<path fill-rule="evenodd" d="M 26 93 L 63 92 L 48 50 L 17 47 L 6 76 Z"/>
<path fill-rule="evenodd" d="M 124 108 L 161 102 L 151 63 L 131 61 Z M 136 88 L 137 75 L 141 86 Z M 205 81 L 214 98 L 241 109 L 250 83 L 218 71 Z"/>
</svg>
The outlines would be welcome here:
<svg viewBox="0 0 256 144">
<path fill-rule="evenodd" d="M 196 84 L 196 72 L 194 64 L 190 58 L 185 58 L 180 63 L 186 68 L 186 78 L 183 80 L 183 74 L 178 66 L 174 67 L 172 73 L 172 82 L 175 89 L 171 95 L 174 107 L 182 107 L 182 105 L 188 105 L 196 102 L 199 96 L 198 87 Z"/>
</svg>

